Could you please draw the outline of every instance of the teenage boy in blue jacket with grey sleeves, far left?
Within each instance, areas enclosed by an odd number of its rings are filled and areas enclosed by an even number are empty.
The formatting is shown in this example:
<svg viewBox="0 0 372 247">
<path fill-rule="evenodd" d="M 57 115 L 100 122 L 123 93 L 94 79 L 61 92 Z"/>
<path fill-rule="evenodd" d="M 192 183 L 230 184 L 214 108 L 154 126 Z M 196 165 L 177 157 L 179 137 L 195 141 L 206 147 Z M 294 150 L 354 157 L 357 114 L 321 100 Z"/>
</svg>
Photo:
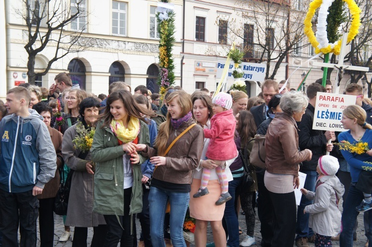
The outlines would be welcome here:
<svg viewBox="0 0 372 247">
<path fill-rule="evenodd" d="M 2 246 L 36 247 L 36 220 L 44 185 L 56 173 L 56 151 L 42 117 L 28 109 L 26 88 L 6 94 L 10 115 L 0 122 L 0 231 Z"/>
</svg>

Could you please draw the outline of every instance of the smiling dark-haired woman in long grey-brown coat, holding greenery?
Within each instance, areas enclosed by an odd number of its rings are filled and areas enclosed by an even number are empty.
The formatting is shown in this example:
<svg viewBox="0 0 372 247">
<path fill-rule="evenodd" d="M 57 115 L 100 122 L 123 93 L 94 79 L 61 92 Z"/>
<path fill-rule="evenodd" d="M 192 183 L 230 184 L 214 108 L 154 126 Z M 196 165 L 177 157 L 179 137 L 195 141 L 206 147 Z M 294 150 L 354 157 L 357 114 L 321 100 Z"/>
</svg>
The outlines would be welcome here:
<svg viewBox="0 0 372 247">
<path fill-rule="evenodd" d="M 86 98 L 79 105 L 80 121 L 69 127 L 63 135 L 62 155 L 67 166 L 73 170 L 68 198 L 66 225 L 74 226 L 72 247 L 86 247 L 88 227 L 93 227 L 91 247 L 102 247 L 106 238 L 106 221 L 103 215 L 93 212 L 94 172 L 90 151 L 85 153 L 74 148 L 72 140 L 81 128 L 89 129 L 98 117 L 99 102 Z"/>
</svg>

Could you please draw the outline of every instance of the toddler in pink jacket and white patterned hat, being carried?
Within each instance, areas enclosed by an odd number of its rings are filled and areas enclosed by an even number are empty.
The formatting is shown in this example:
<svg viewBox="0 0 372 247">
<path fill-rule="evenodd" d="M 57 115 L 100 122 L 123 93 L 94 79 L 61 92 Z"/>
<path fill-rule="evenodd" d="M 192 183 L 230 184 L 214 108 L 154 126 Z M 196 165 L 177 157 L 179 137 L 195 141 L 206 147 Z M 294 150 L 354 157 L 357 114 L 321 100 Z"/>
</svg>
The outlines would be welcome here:
<svg viewBox="0 0 372 247">
<path fill-rule="evenodd" d="M 233 99 L 230 94 L 220 92 L 212 99 L 213 111 L 215 115 L 211 119 L 211 128 L 204 129 L 204 137 L 210 138 L 206 157 L 213 160 L 218 167 L 216 173 L 221 185 L 221 196 L 216 201 L 216 205 L 221 205 L 232 197 L 229 190 L 229 181 L 227 179 L 225 169 L 225 161 L 238 156 L 238 150 L 234 142 L 235 132 L 235 117 L 233 110 Z M 193 197 L 200 197 L 209 194 L 207 185 L 210 178 L 210 170 L 203 168 L 201 176 L 201 185 Z"/>
</svg>

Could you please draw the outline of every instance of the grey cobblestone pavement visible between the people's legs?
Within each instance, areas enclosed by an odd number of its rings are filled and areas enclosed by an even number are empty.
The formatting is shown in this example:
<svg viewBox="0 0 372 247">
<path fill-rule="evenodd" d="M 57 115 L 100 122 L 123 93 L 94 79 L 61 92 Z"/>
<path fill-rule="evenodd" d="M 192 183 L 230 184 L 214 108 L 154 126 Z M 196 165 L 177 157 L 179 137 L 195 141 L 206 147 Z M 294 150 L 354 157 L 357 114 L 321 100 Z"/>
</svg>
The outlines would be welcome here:
<svg viewBox="0 0 372 247">
<path fill-rule="evenodd" d="M 340 205 L 342 205 L 342 201 L 340 202 Z M 54 219 L 55 219 L 54 246 L 55 247 L 71 247 L 72 246 L 71 238 L 65 243 L 59 243 L 58 242 L 59 237 L 62 235 L 62 233 L 64 231 L 62 216 L 55 215 Z M 357 230 L 358 239 L 357 239 L 357 241 L 354 241 L 354 246 L 355 247 L 364 247 L 364 245 L 367 242 L 367 238 L 364 235 L 363 213 L 359 214 L 359 216 L 358 216 L 358 224 L 359 224 L 359 227 L 358 227 L 358 230 Z M 240 242 L 242 242 L 243 239 L 246 236 L 245 233 L 247 231 L 247 226 L 246 226 L 245 216 L 242 215 L 241 213 L 239 214 L 239 225 L 240 225 L 240 227 L 242 228 L 242 231 L 243 231 L 243 234 L 240 236 Z M 139 235 L 140 225 L 139 225 L 138 219 L 136 219 L 136 227 L 137 227 L 137 234 Z M 71 227 L 71 231 L 73 232 L 73 227 Z M 260 223 L 259 223 L 259 220 L 258 220 L 258 216 L 256 216 L 256 222 L 255 222 L 255 226 L 254 226 L 254 237 L 255 237 L 255 240 L 256 240 L 256 245 L 253 245 L 252 247 L 258 247 L 261 244 L 261 234 L 260 234 L 259 231 L 260 231 Z M 88 228 L 88 241 L 87 241 L 88 246 L 90 246 L 90 243 L 92 242 L 92 237 L 93 237 L 93 228 Z M 138 236 L 138 239 L 139 239 L 139 236 Z M 207 241 L 208 241 L 208 243 L 213 242 L 213 235 L 212 235 L 212 230 L 211 230 L 210 226 L 208 226 L 208 230 L 207 230 Z M 312 243 L 310 243 L 309 245 L 310 245 L 310 247 L 314 246 L 314 244 L 312 244 Z M 40 246 L 39 226 L 38 226 L 38 243 L 37 243 L 37 246 Z M 120 246 L 120 245 L 118 245 L 118 246 Z M 193 247 L 193 245 L 190 245 L 190 246 Z M 294 244 L 294 246 L 296 246 L 296 245 Z M 333 241 L 333 247 L 339 247 L 339 242 L 338 241 Z"/>
</svg>

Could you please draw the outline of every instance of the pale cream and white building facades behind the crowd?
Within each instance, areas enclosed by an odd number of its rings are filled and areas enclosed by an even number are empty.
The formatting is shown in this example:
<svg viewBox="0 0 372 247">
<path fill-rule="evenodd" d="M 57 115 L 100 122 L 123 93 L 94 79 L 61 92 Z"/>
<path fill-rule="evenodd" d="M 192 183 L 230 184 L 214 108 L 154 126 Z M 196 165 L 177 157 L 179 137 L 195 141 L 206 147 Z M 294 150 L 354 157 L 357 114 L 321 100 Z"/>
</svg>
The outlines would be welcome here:
<svg viewBox="0 0 372 247">
<path fill-rule="evenodd" d="M 72 8 L 74 0 L 62 2 Z M 294 1 L 292 9 L 294 13 L 297 11 L 304 16 L 306 7 L 301 7 L 301 2 Z M 147 85 L 156 92 L 159 51 L 155 18 L 157 0 L 83 0 L 83 3 L 86 17 L 71 23 L 64 32 L 74 35 L 74 31 L 85 26 L 77 45 L 85 46 L 86 49 L 68 54 L 54 62 L 50 71 L 38 77 L 36 83 L 49 88 L 54 83 L 56 74 L 65 71 L 71 74 L 73 83 L 79 83 L 82 89 L 95 94 L 107 94 L 109 84 L 116 80 L 122 80 L 132 88 L 141 84 Z M 260 32 L 259 25 L 252 21 L 252 16 L 260 15 L 259 11 L 252 9 L 252 4 L 242 6 L 235 0 L 173 0 L 172 3 L 176 12 L 176 42 L 173 50 L 176 85 L 181 85 L 189 93 L 200 88 L 208 88 L 210 91 L 216 89 L 220 81 L 217 78 L 217 63 L 226 60 L 233 42 L 244 48 L 249 42 L 256 42 L 266 35 L 265 32 Z M 5 13 L 0 16 L 0 31 L 6 33 L 6 36 L 0 37 L 0 98 L 5 97 L 8 89 L 27 82 L 28 79 L 27 53 L 24 49 L 28 32 L 25 21 L 17 14 L 17 10 L 24 11 L 23 4 L 22 0 L 0 4 L 1 13 Z M 280 11 L 273 16 L 274 25 L 270 32 L 279 37 L 280 23 L 287 21 L 288 16 Z M 289 24 L 291 25 L 291 22 Z M 247 26 L 252 27 L 252 31 L 245 35 L 244 28 Z M 239 28 L 240 35 L 232 32 L 233 29 Z M 283 41 L 274 39 L 273 42 Z M 291 88 L 297 88 L 301 74 L 309 71 L 313 61 L 320 62 L 320 59 L 309 61 L 314 55 L 313 50 L 309 46 L 301 48 L 307 43 L 305 38 L 298 44 L 299 49 L 280 64 L 275 75 L 277 81 L 290 76 Z M 53 42 L 48 44 L 37 56 L 36 71 L 46 67 L 53 57 L 55 46 Z M 279 53 L 275 46 L 273 53 Z M 246 56 L 247 61 L 257 62 L 256 58 L 261 54 L 262 51 L 258 47 L 251 47 Z M 263 60 L 263 63 L 266 62 Z M 270 62 L 270 70 L 275 62 Z M 336 72 L 332 73 L 332 80 L 335 74 Z M 310 84 L 320 77 L 321 69 L 313 67 L 306 83 Z M 233 79 L 227 79 L 224 90 L 228 90 L 233 82 Z M 260 92 L 261 82 L 246 81 L 249 96 Z M 344 75 L 340 92 L 348 83 L 349 75 Z"/>
</svg>

